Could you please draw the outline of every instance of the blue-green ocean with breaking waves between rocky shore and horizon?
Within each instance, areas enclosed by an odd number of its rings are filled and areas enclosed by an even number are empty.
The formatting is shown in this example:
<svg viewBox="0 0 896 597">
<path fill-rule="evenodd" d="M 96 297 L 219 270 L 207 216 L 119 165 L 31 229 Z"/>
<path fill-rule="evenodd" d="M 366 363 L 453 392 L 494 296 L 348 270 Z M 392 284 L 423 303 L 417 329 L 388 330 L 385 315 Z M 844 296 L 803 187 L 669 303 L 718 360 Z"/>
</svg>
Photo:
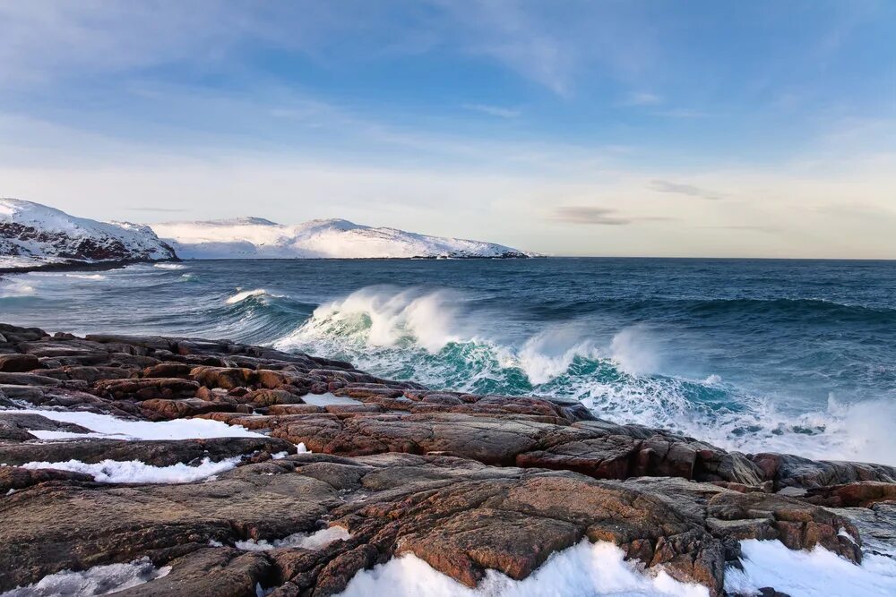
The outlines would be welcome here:
<svg viewBox="0 0 896 597">
<path fill-rule="evenodd" d="M 0 320 L 230 337 L 573 397 L 725 448 L 896 464 L 896 262 L 185 261 L 7 277 Z"/>
</svg>

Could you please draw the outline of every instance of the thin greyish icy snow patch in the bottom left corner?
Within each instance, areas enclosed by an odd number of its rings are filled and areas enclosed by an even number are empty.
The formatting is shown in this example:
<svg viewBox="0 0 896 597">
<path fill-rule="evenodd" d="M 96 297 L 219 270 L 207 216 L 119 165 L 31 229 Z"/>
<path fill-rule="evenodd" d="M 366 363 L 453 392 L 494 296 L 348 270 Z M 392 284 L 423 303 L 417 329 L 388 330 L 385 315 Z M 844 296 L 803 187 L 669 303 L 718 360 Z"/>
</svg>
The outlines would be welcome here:
<svg viewBox="0 0 896 597">
<path fill-rule="evenodd" d="M 35 584 L 0 593 L 0 597 L 86 597 L 123 591 L 168 575 L 171 567 L 154 567 L 148 558 L 129 564 L 94 566 L 81 572 L 63 570 Z"/>
</svg>

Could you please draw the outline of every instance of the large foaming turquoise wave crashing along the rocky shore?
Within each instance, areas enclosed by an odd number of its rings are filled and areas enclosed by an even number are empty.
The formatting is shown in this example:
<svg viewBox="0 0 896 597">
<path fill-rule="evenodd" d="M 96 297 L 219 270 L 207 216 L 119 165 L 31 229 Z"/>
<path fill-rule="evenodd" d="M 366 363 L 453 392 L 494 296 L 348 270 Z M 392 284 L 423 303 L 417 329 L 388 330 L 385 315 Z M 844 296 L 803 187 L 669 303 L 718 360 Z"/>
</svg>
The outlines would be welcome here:
<svg viewBox="0 0 896 597">
<path fill-rule="evenodd" d="M 883 429 L 896 420 L 889 402 L 845 404 L 831 396 L 826 408 L 794 414 L 718 374 L 665 373 L 660 334 L 647 325 L 597 338 L 587 323 L 573 320 L 509 343 L 494 334 L 500 323 L 470 308 L 475 304 L 456 291 L 367 287 L 317 307 L 272 344 L 433 388 L 573 397 L 599 417 L 672 429 L 728 449 L 896 463 L 896 440 Z M 867 432 L 869 425 L 882 429 Z"/>
</svg>

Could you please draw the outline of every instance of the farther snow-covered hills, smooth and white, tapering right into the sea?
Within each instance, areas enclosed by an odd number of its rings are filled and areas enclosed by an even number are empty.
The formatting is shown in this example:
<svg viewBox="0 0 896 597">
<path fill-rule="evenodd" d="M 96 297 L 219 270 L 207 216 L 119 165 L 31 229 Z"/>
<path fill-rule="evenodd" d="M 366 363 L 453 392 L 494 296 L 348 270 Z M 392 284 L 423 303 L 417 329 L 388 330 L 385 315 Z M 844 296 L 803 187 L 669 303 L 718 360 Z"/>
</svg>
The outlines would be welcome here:
<svg viewBox="0 0 896 597">
<path fill-rule="evenodd" d="M 360 226 L 344 219 L 284 226 L 260 217 L 153 224 L 183 259 L 528 257 L 501 244 Z"/>
</svg>

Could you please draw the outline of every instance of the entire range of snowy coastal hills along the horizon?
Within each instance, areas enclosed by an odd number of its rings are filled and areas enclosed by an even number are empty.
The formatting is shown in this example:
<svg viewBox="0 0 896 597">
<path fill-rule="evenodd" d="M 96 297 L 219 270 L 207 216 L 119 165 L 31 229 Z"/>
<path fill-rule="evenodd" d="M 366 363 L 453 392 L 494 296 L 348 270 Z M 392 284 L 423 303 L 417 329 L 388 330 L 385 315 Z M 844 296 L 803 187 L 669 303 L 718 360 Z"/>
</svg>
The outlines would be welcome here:
<svg viewBox="0 0 896 597">
<path fill-rule="evenodd" d="M 144 226 L 0 199 L 0 271 L 180 259 L 519 258 L 502 244 L 418 235 L 343 219 L 285 226 L 261 217 Z"/>
</svg>

